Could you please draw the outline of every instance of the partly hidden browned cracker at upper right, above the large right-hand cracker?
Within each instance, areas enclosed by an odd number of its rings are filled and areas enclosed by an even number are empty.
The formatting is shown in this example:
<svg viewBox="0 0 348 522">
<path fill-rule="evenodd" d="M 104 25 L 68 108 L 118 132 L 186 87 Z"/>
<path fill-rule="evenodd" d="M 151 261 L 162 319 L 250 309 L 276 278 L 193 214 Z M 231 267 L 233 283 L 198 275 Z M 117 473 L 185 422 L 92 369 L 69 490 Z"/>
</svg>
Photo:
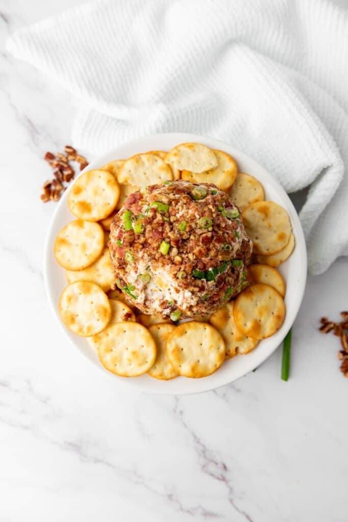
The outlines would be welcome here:
<svg viewBox="0 0 348 522">
<path fill-rule="evenodd" d="M 239 210 L 243 212 L 249 205 L 263 201 L 265 192 L 263 192 L 261 183 L 254 176 L 245 172 L 238 172 L 229 190 L 229 196 Z"/>
</svg>

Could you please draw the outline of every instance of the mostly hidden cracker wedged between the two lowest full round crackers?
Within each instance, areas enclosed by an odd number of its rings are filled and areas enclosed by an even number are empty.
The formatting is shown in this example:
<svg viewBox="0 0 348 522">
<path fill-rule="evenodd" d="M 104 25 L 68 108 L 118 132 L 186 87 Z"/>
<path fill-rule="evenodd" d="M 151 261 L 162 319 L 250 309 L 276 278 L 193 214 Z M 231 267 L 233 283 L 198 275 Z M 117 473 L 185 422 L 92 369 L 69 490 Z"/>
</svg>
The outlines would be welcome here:
<svg viewBox="0 0 348 522">
<path fill-rule="evenodd" d="M 179 373 L 174 370 L 167 356 L 167 339 L 175 328 L 176 326 L 165 323 L 152 325 L 149 328 L 149 332 L 156 343 L 157 355 L 148 374 L 155 379 L 169 381 L 169 379 L 173 379 L 179 375 Z"/>
</svg>

